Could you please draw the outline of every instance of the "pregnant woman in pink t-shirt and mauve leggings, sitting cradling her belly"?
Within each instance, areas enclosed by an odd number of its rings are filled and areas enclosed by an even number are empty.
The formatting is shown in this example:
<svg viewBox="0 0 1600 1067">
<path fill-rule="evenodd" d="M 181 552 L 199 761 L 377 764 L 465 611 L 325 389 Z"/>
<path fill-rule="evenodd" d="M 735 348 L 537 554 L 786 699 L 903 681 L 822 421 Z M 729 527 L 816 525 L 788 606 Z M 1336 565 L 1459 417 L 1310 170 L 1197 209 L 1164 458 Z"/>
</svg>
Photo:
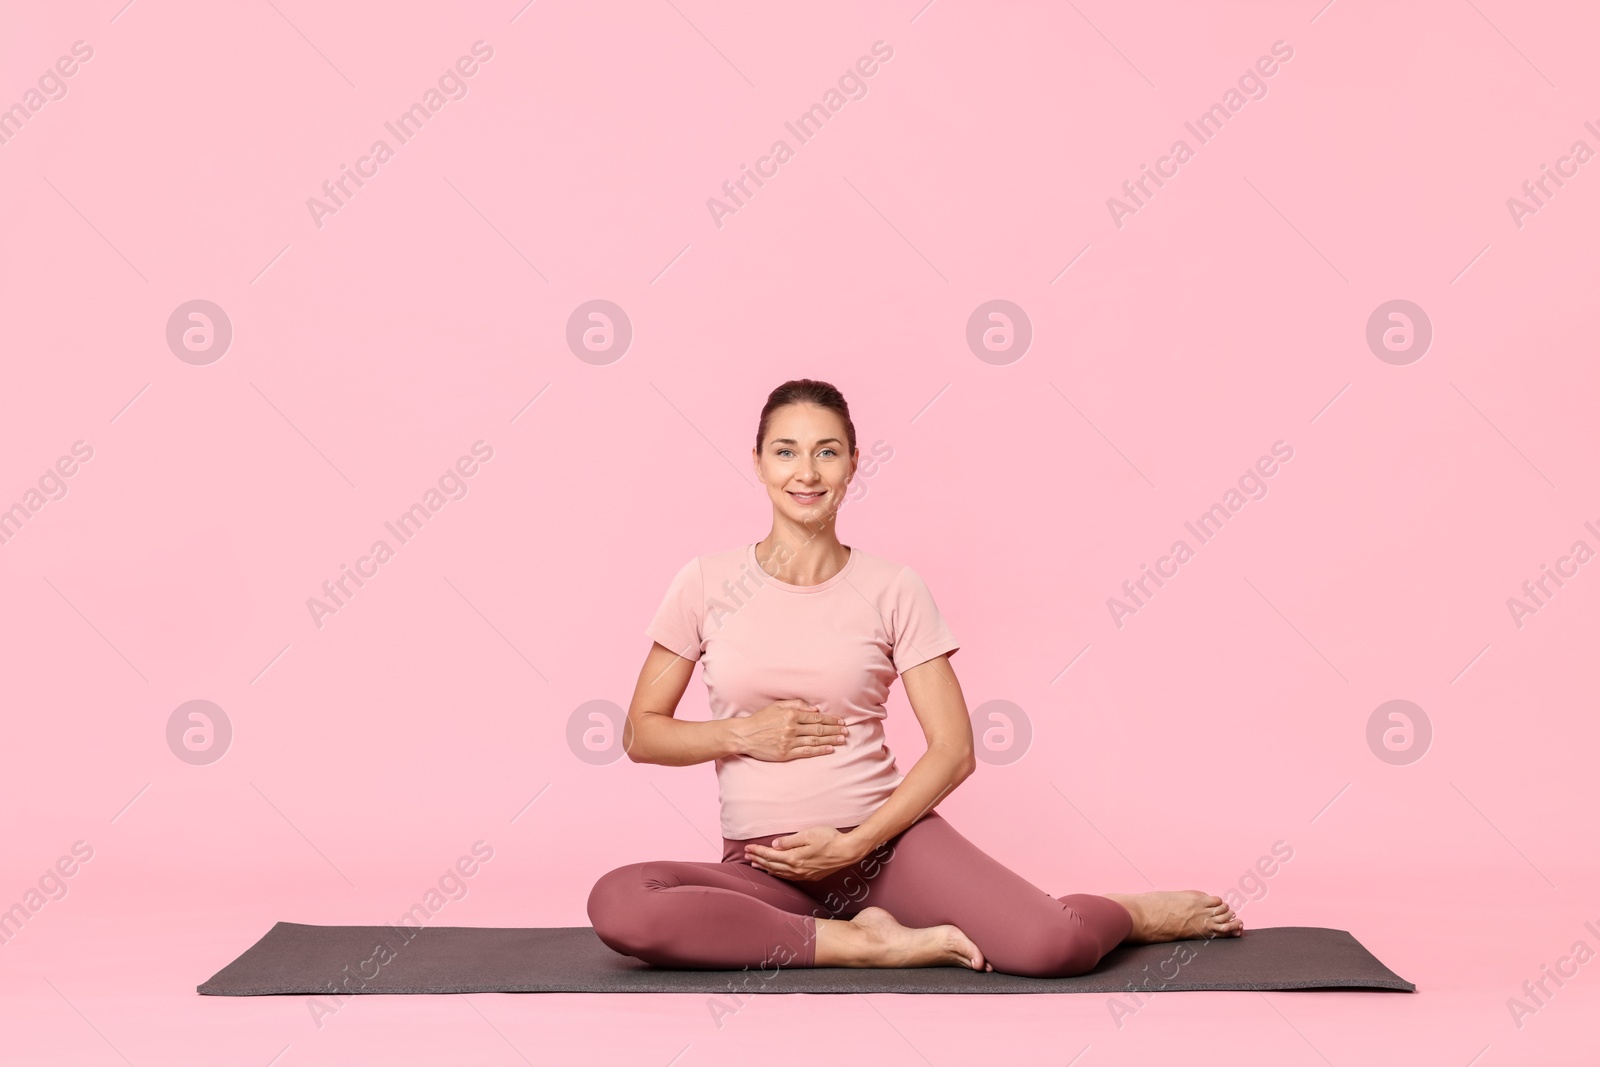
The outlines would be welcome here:
<svg viewBox="0 0 1600 1067">
<path fill-rule="evenodd" d="M 589 894 L 600 941 L 666 968 L 1062 977 L 1123 941 L 1243 929 L 1197 889 L 1053 897 L 957 833 L 933 809 L 978 766 L 957 641 L 912 568 L 838 541 L 859 462 L 845 398 L 811 379 L 774 389 L 752 461 L 773 528 L 672 579 L 622 731 L 635 763 L 715 761 L 722 862 L 608 872 Z M 683 721 L 696 662 L 712 718 Z M 907 774 L 883 734 L 896 675 L 928 739 Z"/>
</svg>

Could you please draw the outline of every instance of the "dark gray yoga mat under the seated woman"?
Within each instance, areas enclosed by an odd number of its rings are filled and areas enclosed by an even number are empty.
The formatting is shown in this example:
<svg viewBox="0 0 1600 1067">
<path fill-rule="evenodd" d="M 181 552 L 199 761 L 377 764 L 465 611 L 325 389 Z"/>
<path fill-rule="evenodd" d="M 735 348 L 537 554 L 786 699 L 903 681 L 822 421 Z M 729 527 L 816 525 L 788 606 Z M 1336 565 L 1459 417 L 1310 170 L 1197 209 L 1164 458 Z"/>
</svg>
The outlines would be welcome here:
<svg viewBox="0 0 1600 1067">
<path fill-rule="evenodd" d="M 410 934 L 410 941 L 406 941 Z M 382 945 L 382 949 L 379 949 Z M 960 966 L 669 971 L 613 952 L 592 926 L 307 926 L 278 923 L 198 985 L 275 993 L 1115 993 L 1181 989 L 1414 992 L 1355 937 L 1269 926 L 1238 937 L 1118 945 L 1088 974 L 1021 977 Z"/>
</svg>

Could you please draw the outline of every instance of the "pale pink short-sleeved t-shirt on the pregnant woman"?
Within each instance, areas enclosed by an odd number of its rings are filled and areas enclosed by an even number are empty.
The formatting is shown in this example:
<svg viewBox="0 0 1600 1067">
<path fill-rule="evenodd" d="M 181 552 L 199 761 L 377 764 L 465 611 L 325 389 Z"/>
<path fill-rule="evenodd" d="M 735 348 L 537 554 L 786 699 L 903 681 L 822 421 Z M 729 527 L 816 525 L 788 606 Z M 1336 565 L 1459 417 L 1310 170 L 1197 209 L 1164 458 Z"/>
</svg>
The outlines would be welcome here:
<svg viewBox="0 0 1600 1067">
<path fill-rule="evenodd" d="M 733 840 L 866 822 L 904 777 L 883 736 L 890 686 L 958 648 L 909 566 L 851 549 L 834 577 L 792 585 L 762 569 L 754 544 L 685 563 L 645 635 L 702 662 L 712 718 L 798 697 L 850 726 L 826 755 L 717 760 Z"/>
</svg>

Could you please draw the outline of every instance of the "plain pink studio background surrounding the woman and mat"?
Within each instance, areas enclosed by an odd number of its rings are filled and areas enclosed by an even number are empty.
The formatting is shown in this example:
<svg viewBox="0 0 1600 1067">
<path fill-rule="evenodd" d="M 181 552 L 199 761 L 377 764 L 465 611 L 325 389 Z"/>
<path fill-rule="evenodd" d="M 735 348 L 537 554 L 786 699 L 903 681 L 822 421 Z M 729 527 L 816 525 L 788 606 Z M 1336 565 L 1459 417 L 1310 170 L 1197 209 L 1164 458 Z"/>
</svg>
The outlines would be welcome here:
<svg viewBox="0 0 1600 1067">
<path fill-rule="evenodd" d="M 1600 963 L 1520 1029 L 1506 1003 L 1600 949 L 1600 563 L 1522 627 L 1506 605 L 1600 549 L 1600 162 L 1506 205 L 1600 149 L 1584 5 L 123 2 L 0 32 L 0 106 L 93 48 L 0 146 L 0 506 L 93 448 L 0 545 L 0 904 L 93 848 L 0 947 L 6 1062 L 1592 1054 Z M 306 200 L 477 40 L 467 94 L 318 227 Z M 232 322 L 210 365 L 165 339 L 192 299 Z M 611 363 L 565 341 L 590 299 L 634 326 Z M 990 299 L 1034 328 L 1006 365 L 965 341 Z M 1434 326 L 1410 365 L 1365 339 L 1392 299 Z M 720 1029 L 704 997 L 357 997 L 318 1029 L 194 992 L 277 920 L 397 918 L 478 840 L 437 925 L 587 925 L 605 870 L 715 857 L 710 766 L 592 765 L 568 720 L 626 707 L 683 560 L 766 533 L 755 421 L 803 376 L 893 450 L 842 539 L 915 566 L 970 705 L 1032 725 L 941 811 L 1053 893 L 1222 893 L 1283 840 L 1246 923 L 1349 929 L 1418 995 L 1184 993 L 1120 1027 L 1101 995 L 758 997 Z M 478 440 L 467 494 L 318 629 L 307 598 Z M 1269 494 L 1118 629 L 1107 597 L 1277 440 Z M 166 742 L 192 699 L 234 728 L 203 766 Z M 1390 699 L 1421 760 L 1368 747 Z"/>
</svg>

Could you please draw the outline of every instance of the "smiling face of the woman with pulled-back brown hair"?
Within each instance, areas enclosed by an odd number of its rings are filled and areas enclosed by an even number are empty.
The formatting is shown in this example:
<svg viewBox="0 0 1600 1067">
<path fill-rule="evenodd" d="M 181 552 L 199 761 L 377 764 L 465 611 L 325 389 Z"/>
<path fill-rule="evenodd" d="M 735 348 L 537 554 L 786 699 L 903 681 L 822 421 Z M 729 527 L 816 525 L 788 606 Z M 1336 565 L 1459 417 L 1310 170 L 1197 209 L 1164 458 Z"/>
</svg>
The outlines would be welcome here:
<svg viewBox="0 0 1600 1067">
<path fill-rule="evenodd" d="M 859 450 L 851 454 L 845 421 L 813 403 L 790 403 L 773 411 L 755 474 L 766 485 L 778 514 L 797 525 L 824 526 L 845 499 L 856 474 Z"/>
</svg>

